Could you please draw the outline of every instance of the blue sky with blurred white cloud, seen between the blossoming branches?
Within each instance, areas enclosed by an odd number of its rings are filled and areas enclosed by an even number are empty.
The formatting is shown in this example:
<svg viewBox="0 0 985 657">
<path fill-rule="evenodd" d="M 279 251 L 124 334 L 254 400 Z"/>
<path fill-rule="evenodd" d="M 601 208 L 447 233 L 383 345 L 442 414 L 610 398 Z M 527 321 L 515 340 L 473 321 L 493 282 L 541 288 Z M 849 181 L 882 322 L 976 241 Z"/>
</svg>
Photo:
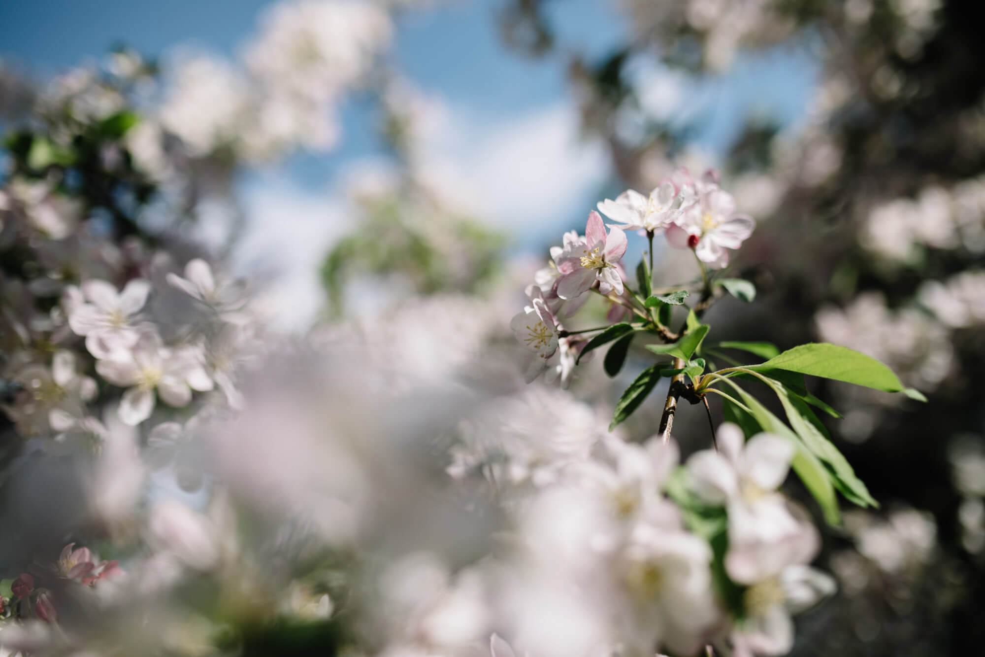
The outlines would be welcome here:
<svg viewBox="0 0 985 657">
<path fill-rule="evenodd" d="M 234 59 L 270 4 L 0 1 L 0 58 L 40 76 L 95 59 L 120 42 L 150 56 L 191 46 Z M 540 252 L 561 231 L 583 222 L 598 194 L 613 191 L 615 182 L 604 149 L 579 136 L 565 61 L 531 60 L 507 51 L 494 20 L 498 6 L 499 0 L 457 0 L 407 12 L 398 24 L 392 59 L 448 108 L 448 125 L 431 145 L 437 164 L 461 178 L 466 195 L 483 201 L 481 209 L 488 211 L 493 225 L 516 234 L 517 244 Z M 612 0 L 557 0 L 548 6 L 562 52 L 577 49 L 601 57 L 624 37 L 626 26 Z M 692 90 L 703 108 L 697 143 L 720 152 L 750 111 L 795 121 L 814 79 L 803 53 L 741 58 L 727 76 Z M 380 155 L 365 107 L 350 103 L 342 122 L 343 141 L 333 153 L 298 155 L 276 169 L 243 178 L 251 221 L 240 265 L 280 268 L 284 290 L 303 290 L 293 295 L 294 306 L 313 305 L 320 294 L 318 263 L 351 225 L 339 198 L 339 179 Z M 291 323 L 303 323 L 303 317 Z"/>
</svg>

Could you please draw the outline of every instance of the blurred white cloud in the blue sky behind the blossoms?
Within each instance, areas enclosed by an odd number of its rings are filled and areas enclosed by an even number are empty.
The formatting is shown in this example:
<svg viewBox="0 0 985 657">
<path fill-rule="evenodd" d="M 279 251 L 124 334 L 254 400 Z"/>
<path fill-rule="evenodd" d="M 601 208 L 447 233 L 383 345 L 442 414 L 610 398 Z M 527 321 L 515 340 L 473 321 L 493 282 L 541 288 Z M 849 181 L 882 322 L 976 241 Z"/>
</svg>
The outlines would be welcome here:
<svg viewBox="0 0 985 657">
<path fill-rule="evenodd" d="M 424 171 L 441 193 L 491 226 L 517 234 L 543 233 L 587 214 L 608 162 L 598 143 L 581 140 L 570 104 L 513 116 L 483 117 L 446 107 L 424 136 Z M 378 161 L 354 161 L 350 175 L 324 194 L 283 179 L 254 183 L 244 206 L 249 223 L 237 246 L 240 271 L 277 275 L 263 304 L 278 328 L 310 324 L 322 307 L 318 270 L 351 226 L 346 181 Z"/>
</svg>

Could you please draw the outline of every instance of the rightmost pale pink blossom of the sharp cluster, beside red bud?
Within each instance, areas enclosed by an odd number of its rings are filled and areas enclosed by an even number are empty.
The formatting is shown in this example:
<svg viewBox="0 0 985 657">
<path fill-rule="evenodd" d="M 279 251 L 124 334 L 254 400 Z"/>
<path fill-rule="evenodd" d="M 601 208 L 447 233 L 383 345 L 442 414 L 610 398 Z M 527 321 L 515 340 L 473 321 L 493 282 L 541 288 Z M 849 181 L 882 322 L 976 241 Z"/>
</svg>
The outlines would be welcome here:
<svg viewBox="0 0 985 657">
<path fill-rule="evenodd" d="M 698 195 L 667 228 L 667 242 L 693 249 L 698 259 L 720 269 L 729 263 L 729 249 L 738 249 L 753 234 L 755 221 L 736 213 L 732 194 L 711 188 Z"/>
</svg>

